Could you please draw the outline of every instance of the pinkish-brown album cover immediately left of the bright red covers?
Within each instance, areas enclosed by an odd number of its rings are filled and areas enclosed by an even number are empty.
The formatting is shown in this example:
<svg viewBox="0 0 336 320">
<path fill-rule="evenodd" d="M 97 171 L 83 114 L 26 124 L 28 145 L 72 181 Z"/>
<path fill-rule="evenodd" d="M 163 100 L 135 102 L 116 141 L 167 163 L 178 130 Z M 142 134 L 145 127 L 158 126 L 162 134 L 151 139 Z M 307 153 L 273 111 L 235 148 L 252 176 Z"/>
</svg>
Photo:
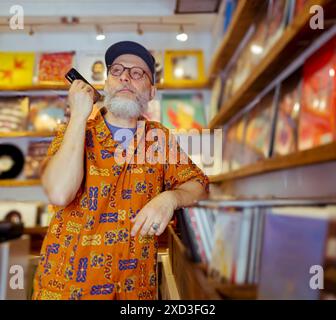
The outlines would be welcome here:
<svg viewBox="0 0 336 320">
<path fill-rule="evenodd" d="M 298 150 L 301 78 L 300 69 L 281 84 L 275 131 L 275 155 L 287 155 Z"/>
</svg>

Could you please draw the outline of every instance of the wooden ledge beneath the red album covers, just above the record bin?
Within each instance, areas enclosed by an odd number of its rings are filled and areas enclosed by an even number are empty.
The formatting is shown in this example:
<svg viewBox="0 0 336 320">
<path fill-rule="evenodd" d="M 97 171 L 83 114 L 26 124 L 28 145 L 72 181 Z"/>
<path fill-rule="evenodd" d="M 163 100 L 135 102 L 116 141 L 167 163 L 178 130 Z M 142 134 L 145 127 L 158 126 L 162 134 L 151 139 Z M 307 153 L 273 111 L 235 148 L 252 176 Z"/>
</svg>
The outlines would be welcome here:
<svg viewBox="0 0 336 320">
<path fill-rule="evenodd" d="M 286 156 L 277 156 L 248 165 L 239 170 L 210 176 L 210 182 L 218 183 L 262 174 L 271 171 L 301 167 L 336 160 L 336 142 L 322 145 L 313 149 L 299 151 Z"/>
</svg>

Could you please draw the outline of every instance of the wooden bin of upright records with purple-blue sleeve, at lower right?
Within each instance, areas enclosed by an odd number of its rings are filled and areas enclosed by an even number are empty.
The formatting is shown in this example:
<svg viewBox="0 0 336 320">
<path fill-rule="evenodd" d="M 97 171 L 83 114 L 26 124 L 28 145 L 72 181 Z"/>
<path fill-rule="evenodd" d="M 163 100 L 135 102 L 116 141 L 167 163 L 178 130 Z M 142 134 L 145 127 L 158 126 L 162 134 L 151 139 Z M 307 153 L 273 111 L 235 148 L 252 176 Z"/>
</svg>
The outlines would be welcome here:
<svg viewBox="0 0 336 320">
<path fill-rule="evenodd" d="M 169 230 L 181 299 L 336 299 L 335 203 L 204 200 L 184 208 Z M 317 268 L 324 290 L 312 285 Z"/>
</svg>

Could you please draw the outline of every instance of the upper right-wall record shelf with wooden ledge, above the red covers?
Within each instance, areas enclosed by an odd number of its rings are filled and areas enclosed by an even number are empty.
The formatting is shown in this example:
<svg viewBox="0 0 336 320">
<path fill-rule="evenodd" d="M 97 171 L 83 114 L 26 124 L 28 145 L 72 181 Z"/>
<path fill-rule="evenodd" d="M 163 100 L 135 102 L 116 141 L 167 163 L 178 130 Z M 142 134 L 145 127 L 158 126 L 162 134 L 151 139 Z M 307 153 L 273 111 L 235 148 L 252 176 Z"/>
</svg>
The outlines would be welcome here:
<svg viewBox="0 0 336 320">
<path fill-rule="evenodd" d="M 251 1 L 249 6 L 253 6 L 255 2 Z M 244 37 L 239 39 L 240 43 L 239 46 L 235 46 L 235 53 L 227 57 L 230 60 L 222 70 L 217 70 L 217 73 L 212 71 L 213 75 L 218 76 L 213 84 L 210 128 L 228 122 L 232 116 L 257 98 L 263 88 L 272 83 L 314 44 L 314 40 L 321 39 L 326 33 L 335 34 L 334 24 L 331 23 L 336 18 L 334 1 L 269 0 L 263 2 L 263 10 L 260 1 L 257 2 L 258 13 L 254 15 L 254 22 Z M 323 29 L 312 29 L 309 26 L 312 5 L 320 5 L 324 9 Z M 234 38 L 231 41 L 236 42 L 235 32 L 231 33 L 231 37 Z M 227 45 L 231 45 L 229 40 L 227 42 Z M 333 51 L 331 47 L 332 45 L 329 50 Z M 225 52 L 226 46 L 223 50 Z M 305 65 L 313 63 L 311 60 L 314 60 L 315 68 L 319 69 L 317 55 L 308 59 Z M 216 56 L 221 57 L 221 54 Z"/>
</svg>

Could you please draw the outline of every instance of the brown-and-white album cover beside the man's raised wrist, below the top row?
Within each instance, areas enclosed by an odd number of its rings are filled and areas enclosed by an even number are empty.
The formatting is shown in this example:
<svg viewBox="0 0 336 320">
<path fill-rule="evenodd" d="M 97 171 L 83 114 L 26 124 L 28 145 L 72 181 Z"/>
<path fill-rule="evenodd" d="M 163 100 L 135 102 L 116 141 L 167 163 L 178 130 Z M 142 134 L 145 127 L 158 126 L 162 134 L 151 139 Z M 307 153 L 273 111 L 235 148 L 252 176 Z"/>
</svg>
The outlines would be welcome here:
<svg viewBox="0 0 336 320">
<path fill-rule="evenodd" d="M 31 97 L 29 108 L 29 129 L 53 132 L 64 121 L 67 97 Z"/>
</svg>

